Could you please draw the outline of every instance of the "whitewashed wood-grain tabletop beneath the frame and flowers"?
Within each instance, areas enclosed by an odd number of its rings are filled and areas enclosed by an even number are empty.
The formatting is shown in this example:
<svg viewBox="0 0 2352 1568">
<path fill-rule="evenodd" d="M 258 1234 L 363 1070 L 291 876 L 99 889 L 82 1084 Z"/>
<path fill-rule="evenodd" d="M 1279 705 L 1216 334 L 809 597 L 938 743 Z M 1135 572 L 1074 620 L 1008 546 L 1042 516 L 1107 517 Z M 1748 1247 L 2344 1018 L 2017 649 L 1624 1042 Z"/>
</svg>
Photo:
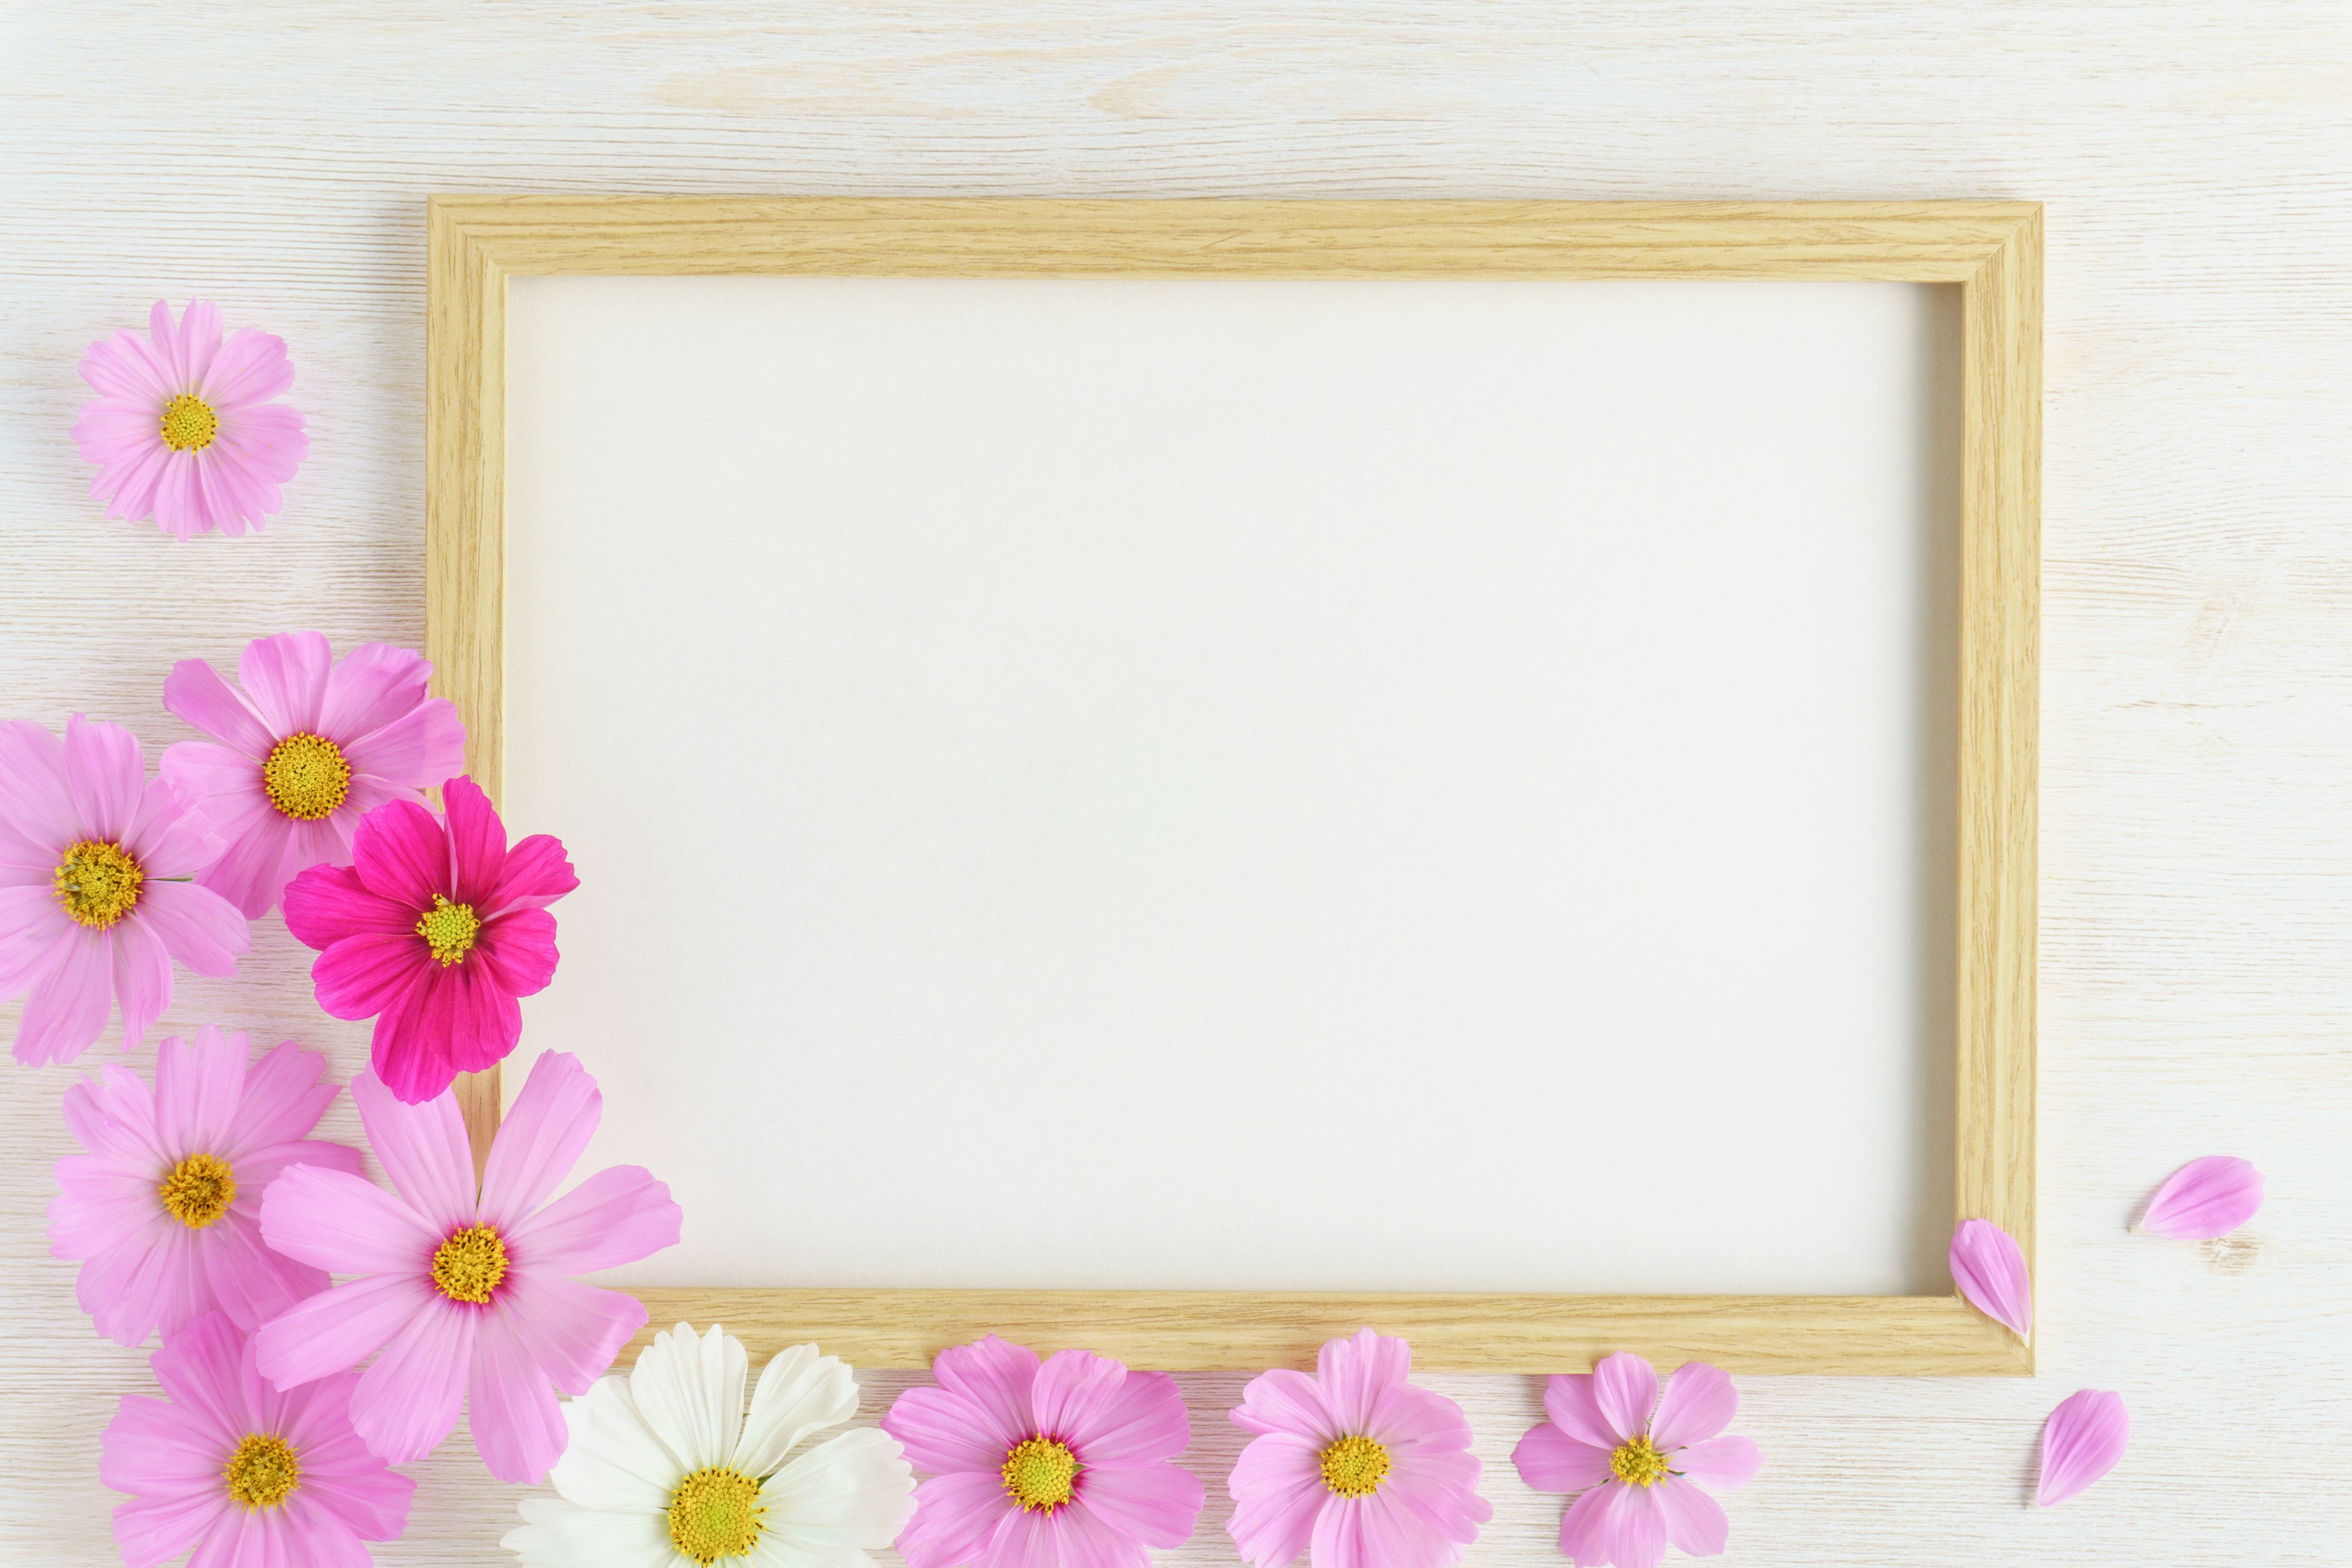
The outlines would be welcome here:
<svg viewBox="0 0 2352 1568">
<path fill-rule="evenodd" d="M 2352 12 L 2225 5 L 976 7 L 955 0 L 0 7 L 0 717 L 186 738 L 174 658 L 423 632 L 423 195 L 2027 197 L 2049 202 L 2042 1375 L 1745 1380 L 1726 1563 L 2352 1561 Z M 158 296 L 280 331 L 310 458 L 259 538 L 103 520 L 82 346 Z M 628 411 L 614 411 L 628 437 Z M 273 919 L 165 1030 L 348 1077 Z M 12 1032 L 14 1009 L 0 1009 Z M 120 1056 L 113 1039 L 85 1063 Z M 141 1053 L 148 1060 L 148 1053 Z M 0 1561 L 106 1563 L 143 1352 L 47 1255 L 71 1070 L 0 1067 Z M 358 1138 L 339 1110 L 329 1135 Z M 2227 1244 L 2126 1222 L 2209 1152 Z M 1240 1378 L 1192 1380 L 1223 1474 Z M 1534 1382 L 1465 1401 L 1496 1521 Z M 873 1380 L 870 1420 L 901 1378 Z M 2027 1507 L 2042 1415 L 2136 1443 Z M 496 1563 L 463 1429 L 383 1563 Z M 1221 1561 L 1223 1497 L 1178 1561 Z"/>
</svg>

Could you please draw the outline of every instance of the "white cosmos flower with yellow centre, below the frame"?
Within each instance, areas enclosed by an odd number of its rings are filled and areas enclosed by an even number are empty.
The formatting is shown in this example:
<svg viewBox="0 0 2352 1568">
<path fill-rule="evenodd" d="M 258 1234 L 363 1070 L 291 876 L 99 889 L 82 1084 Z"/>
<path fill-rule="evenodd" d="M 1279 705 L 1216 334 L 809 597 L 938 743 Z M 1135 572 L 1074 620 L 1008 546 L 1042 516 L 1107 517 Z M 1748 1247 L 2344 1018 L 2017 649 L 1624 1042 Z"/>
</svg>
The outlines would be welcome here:
<svg viewBox="0 0 2352 1568">
<path fill-rule="evenodd" d="M 873 1568 L 915 1512 L 915 1476 L 887 1432 L 800 1441 L 858 1408 L 849 1368 L 795 1345 L 760 1373 L 713 1328 L 656 1333 L 628 1378 L 564 1403 L 572 1443 L 555 1497 L 524 1497 L 506 1544 L 529 1568 Z"/>
</svg>

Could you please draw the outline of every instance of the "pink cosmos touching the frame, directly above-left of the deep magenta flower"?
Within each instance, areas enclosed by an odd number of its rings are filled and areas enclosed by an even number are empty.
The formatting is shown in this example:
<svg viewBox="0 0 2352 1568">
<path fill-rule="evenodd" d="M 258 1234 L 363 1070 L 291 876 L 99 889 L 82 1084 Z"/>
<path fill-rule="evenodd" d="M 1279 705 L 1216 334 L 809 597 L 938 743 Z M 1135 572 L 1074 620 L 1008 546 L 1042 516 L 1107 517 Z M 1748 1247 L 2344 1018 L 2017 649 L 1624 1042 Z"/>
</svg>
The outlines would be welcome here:
<svg viewBox="0 0 2352 1568">
<path fill-rule="evenodd" d="M 202 658 L 172 665 L 162 705 L 214 741 L 181 741 L 162 778 L 226 849 L 202 884 L 261 919 L 294 872 L 350 865 L 360 818 L 466 766 L 456 705 L 426 696 L 433 665 L 388 642 L 334 658 L 318 632 L 245 644 L 230 686 Z"/>
</svg>

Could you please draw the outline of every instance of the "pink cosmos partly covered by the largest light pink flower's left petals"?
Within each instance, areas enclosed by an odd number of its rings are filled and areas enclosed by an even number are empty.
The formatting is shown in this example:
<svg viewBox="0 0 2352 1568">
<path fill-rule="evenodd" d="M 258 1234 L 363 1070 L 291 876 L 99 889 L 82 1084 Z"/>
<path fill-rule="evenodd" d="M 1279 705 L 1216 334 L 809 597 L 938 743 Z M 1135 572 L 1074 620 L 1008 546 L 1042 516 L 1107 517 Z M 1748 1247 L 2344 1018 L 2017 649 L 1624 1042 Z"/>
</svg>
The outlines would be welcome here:
<svg viewBox="0 0 2352 1568">
<path fill-rule="evenodd" d="M 327 1276 L 261 1244 L 261 1190 L 292 1164 L 360 1173 L 360 1152 L 308 1133 L 339 1093 L 292 1039 L 252 1063 L 209 1023 L 155 1051 L 155 1091 L 122 1067 L 66 1091 L 87 1154 L 56 1161 L 49 1253 L 80 1258 L 75 1300 L 118 1345 L 205 1312 L 254 1331 Z"/>
</svg>

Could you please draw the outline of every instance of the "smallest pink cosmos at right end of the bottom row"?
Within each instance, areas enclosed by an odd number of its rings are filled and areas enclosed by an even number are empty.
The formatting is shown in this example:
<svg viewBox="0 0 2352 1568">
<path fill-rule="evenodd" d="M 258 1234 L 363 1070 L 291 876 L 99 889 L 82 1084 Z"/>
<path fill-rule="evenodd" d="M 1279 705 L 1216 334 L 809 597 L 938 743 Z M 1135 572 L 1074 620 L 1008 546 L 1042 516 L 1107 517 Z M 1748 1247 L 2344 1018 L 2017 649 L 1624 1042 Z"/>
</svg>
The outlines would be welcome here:
<svg viewBox="0 0 2352 1568">
<path fill-rule="evenodd" d="M 1552 1378 L 1541 1422 L 1510 1460 L 1541 1493 L 1583 1493 L 1559 1521 L 1576 1568 L 1658 1568 L 1665 1544 L 1715 1556 L 1731 1521 L 1708 1493 L 1745 1486 L 1762 1465 L 1745 1436 L 1719 1436 L 1740 1396 L 1719 1368 L 1686 1361 L 1665 1380 L 1642 1356 Z M 1708 1490 L 1700 1490 L 1708 1488 Z"/>
</svg>

